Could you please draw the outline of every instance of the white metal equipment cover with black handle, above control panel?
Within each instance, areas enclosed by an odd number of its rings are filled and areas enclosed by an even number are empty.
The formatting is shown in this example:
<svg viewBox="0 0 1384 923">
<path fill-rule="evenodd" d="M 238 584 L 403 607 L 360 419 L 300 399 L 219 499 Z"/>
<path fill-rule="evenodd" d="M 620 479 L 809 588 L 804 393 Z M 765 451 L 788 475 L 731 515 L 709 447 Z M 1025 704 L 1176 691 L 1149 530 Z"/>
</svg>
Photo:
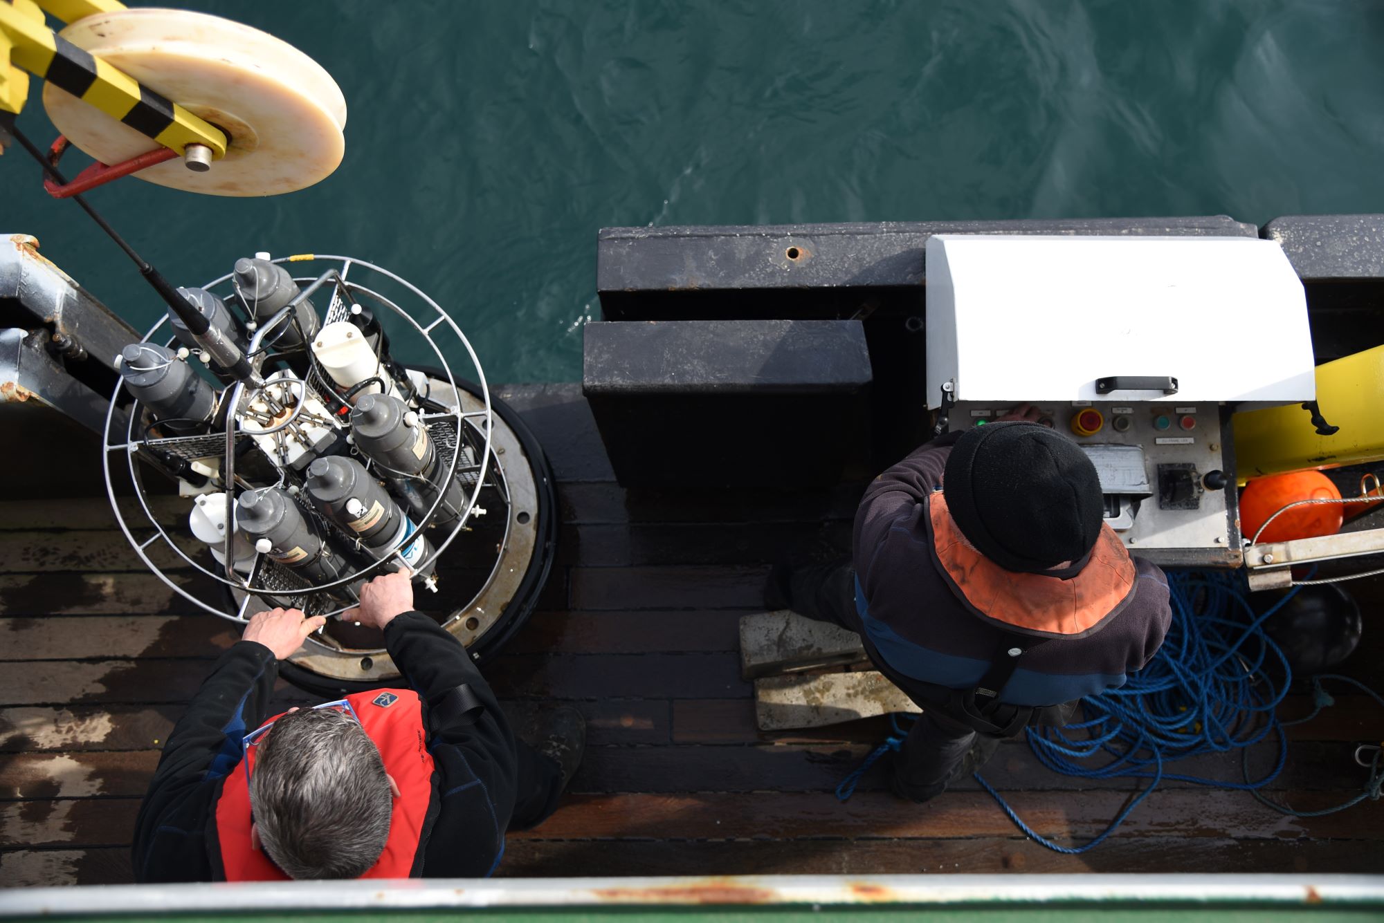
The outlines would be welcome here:
<svg viewBox="0 0 1384 923">
<path fill-rule="evenodd" d="M 1302 283 L 1273 240 L 936 235 L 927 403 L 1091 401 L 1096 379 L 1171 376 L 1138 401 L 1316 397 Z"/>
</svg>

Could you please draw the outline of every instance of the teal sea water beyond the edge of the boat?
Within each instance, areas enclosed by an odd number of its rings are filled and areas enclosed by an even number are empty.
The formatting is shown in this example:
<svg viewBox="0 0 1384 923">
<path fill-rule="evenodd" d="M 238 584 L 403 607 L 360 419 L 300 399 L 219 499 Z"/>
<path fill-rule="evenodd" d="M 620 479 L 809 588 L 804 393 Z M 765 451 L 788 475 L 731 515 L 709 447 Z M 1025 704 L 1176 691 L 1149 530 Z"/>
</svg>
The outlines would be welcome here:
<svg viewBox="0 0 1384 923">
<path fill-rule="evenodd" d="M 605 225 L 1384 211 L 1380 0 L 179 6 L 320 61 L 346 160 L 274 199 L 123 180 L 93 203 L 177 285 L 255 250 L 386 265 L 491 381 L 580 377 Z M 37 93 L 19 124 L 51 140 Z M 158 316 L 19 151 L 0 231 Z"/>
</svg>

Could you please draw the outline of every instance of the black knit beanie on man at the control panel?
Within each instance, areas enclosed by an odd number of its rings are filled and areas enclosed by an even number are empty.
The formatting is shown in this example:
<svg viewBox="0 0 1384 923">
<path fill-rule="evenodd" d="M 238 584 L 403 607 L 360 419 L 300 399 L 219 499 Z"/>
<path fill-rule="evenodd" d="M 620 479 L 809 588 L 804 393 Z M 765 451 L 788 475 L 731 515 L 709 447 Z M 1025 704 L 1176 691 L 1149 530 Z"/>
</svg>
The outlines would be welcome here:
<svg viewBox="0 0 1384 923">
<path fill-rule="evenodd" d="M 1037 423 L 967 431 L 947 459 L 943 495 L 962 535 L 1006 571 L 1080 561 L 1100 533 L 1096 466 L 1071 439 Z"/>
</svg>

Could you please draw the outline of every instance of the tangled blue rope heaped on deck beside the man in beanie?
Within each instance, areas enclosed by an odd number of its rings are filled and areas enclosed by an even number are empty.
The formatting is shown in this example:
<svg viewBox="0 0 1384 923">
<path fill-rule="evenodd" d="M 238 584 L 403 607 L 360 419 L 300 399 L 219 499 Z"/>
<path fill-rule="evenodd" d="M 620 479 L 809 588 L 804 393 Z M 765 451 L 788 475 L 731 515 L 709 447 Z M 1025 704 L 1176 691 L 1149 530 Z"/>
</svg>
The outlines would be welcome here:
<svg viewBox="0 0 1384 923">
<path fill-rule="evenodd" d="M 1068 847 L 1053 843 L 1024 824 L 1003 796 L 976 772 L 976 781 L 994 796 L 1014 825 L 1037 843 L 1057 853 L 1078 854 L 1103 843 L 1149 797 L 1163 779 L 1251 792 L 1259 801 L 1286 814 L 1318 817 L 1345 810 L 1365 799 L 1378 799 L 1384 788 L 1380 750 L 1374 750 L 1365 789 L 1344 804 L 1323 811 L 1295 811 L 1259 789 L 1283 771 L 1287 738 L 1283 728 L 1313 719 L 1331 703 L 1323 680 L 1347 683 L 1384 705 L 1373 689 L 1344 676 L 1313 677 L 1312 714 L 1289 724 L 1275 714 L 1289 692 L 1293 670 L 1279 647 L 1264 633 L 1264 623 L 1295 593 L 1255 613 L 1243 578 L 1223 571 L 1168 573 L 1172 625 L 1153 659 L 1118 689 L 1082 699 L 1085 719 L 1063 728 L 1028 728 L 1028 745 L 1038 760 L 1055 772 L 1086 779 L 1147 779 L 1135 797 L 1089 843 Z M 889 750 L 902 746 L 905 732 L 894 720 L 894 734 L 841 781 L 836 796 L 846 800 L 861 775 Z M 1259 778 L 1251 778 L 1248 750 L 1272 738 L 1276 759 Z M 1210 753 L 1241 752 L 1243 782 L 1208 779 L 1168 771 L 1168 764 Z"/>
</svg>

